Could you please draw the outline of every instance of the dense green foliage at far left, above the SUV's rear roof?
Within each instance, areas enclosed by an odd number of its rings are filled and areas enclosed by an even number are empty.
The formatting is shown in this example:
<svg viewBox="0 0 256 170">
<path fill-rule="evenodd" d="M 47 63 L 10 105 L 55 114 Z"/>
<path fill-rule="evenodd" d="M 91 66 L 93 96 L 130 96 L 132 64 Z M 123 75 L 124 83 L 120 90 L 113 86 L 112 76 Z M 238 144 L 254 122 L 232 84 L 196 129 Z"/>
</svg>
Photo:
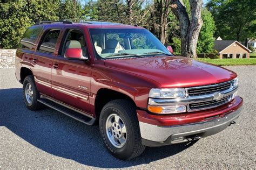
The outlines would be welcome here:
<svg viewBox="0 0 256 170">
<path fill-rule="evenodd" d="M 25 1 L 0 3 L 0 44 L 16 48 L 25 30 L 42 20 L 84 18 L 80 3 L 66 1 Z"/>
</svg>

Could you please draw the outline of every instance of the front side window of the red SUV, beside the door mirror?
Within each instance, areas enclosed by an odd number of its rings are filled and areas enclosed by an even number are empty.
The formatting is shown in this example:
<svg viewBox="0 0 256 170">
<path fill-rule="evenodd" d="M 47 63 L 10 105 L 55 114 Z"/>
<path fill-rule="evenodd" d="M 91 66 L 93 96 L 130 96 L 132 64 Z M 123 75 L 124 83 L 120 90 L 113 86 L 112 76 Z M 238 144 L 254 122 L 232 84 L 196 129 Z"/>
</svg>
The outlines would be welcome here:
<svg viewBox="0 0 256 170">
<path fill-rule="evenodd" d="M 86 44 L 82 31 L 73 29 L 67 31 L 62 47 L 62 56 L 64 56 L 64 53 L 68 48 L 81 48 L 83 51 L 83 56 L 86 55 Z"/>
</svg>

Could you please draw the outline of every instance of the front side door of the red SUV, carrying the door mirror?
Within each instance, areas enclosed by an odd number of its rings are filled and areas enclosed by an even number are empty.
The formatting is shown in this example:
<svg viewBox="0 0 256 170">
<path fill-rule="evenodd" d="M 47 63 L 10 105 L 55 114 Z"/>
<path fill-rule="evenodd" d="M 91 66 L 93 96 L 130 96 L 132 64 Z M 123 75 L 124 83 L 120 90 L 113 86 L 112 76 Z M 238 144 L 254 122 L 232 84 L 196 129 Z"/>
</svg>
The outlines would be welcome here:
<svg viewBox="0 0 256 170">
<path fill-rule="evenodd" d="M 89 95 L 92 65 L 85 61 L 64 58 L 65 50 L 69 48 L 70 41 L 75 41 L 76 44 L 79 42 L 83 49 L 83 55 L 87 55 L 83 30 L 69 26 L 60 43 L 58 56 L 53 59 L 52 94 L 58 101 L 90 112 Z"/>
</svg>

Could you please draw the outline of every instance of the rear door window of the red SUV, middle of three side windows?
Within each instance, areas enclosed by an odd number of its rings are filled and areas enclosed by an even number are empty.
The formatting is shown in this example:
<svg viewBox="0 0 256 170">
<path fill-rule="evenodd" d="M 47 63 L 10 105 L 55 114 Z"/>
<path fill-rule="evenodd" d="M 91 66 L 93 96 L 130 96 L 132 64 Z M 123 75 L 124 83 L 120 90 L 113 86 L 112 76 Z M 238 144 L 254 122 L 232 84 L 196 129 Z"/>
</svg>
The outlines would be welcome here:
<svg viewBox="0 0 256 170">
<path fill-rule="evenodd" d="M 46 53 L 53 53 L 55 51 L 55 45 L 59 37 L 59 33 L 60 29 L 52 29 L 46 32 L 38 50 Z"/>
</svg>

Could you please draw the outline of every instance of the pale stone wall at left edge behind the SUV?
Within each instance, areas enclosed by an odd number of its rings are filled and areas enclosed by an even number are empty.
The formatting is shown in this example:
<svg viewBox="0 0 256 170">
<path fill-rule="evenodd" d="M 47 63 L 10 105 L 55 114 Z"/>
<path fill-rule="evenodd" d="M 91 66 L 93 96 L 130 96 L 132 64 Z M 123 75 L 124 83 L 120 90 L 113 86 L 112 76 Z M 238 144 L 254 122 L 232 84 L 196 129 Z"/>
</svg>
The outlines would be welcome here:
<svg viewBox="0 0 256 170">
<path fill-rule="evenodd" d="M 0 68 L 15 68 L 16 49 L 0 49 Z"/>
</svg>

